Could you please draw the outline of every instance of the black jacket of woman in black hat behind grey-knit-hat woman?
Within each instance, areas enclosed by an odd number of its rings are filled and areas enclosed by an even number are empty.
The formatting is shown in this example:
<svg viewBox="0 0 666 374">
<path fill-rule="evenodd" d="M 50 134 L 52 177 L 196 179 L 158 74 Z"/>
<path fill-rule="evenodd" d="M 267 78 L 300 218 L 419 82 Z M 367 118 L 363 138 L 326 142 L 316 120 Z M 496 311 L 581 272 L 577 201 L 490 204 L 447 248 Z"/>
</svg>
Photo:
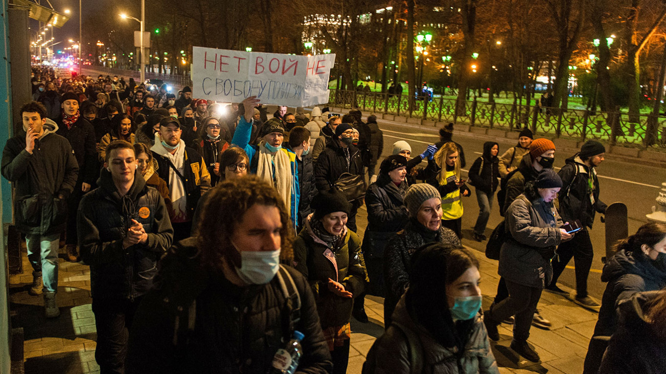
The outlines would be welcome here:
<svg viewBox="0 0 666 374">
<path fill-rule="evenodd" d="M 372 232 L 395 233 L 405 227 L 409 214 L 404 204 L 407 182 L 396 186 L 386 174 L 380 174 L 377 182 L 370 184 L 366 192 L 368 228 Z M 388 238 L 387 238 L 388 239 Z"/>
</svg>

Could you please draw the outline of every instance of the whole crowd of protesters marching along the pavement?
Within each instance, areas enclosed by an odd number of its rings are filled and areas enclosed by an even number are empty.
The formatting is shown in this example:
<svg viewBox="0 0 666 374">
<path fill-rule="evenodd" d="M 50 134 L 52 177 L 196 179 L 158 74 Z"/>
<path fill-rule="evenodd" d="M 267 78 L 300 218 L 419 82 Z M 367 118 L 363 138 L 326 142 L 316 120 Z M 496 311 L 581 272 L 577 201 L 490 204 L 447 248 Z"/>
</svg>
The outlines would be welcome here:
<svg viewBox="0 0 666 374">
<path fill-rule="evenodd" d="M 500 323 L 513 324 L 513 351 L 539 361 L 529 330 L 551 323 L 537 303 L 543 289 L 568 294 L 557 279 L 571 258 L 575 301 L 599 309 L 587 295 L 587 230 L 606 208 L 599 142 L 556 173 L 555 144 L 525 128 L 503 152 L 486 142 L 466 180 L 454 124 L 416 157 L 404 140 L 382 157 L 377 118 L 364 122 L 360 110 L 278 106 L 269 118 L 254 96 L 222 105 L 190 87 L 37 68 L 32 84 L 1 166 L 33 266 L 29 293 L 58 317 L 64 238 L 66 259 L 91 268 L 102 373 L 265 373 L 279 369 L 274 356 L 294 331 L 304 335 L 299 372 L 346 373 L 350 321 L 368 322 L 366 295 L 384 297 L 386 333 L 364 373 L 499 373 L 489 339 L 500 339 Z M 468 184 L 479 205 L 472 239 L 488 240 L 496 193 L 505 217 L 485 312 L 479 261 L 461 246 Z M 586 373 L 624 365 L 629 323 L 663 339 L 655 318 L 666 297 L 639 292 L 666 285 L 665 243 L 666 226 L 646 225 L 607 261 Z M 619 304 L 631 317 L 618 319 Z M 599 339 L 618 327 L 610 343 Z"/>
</svg>

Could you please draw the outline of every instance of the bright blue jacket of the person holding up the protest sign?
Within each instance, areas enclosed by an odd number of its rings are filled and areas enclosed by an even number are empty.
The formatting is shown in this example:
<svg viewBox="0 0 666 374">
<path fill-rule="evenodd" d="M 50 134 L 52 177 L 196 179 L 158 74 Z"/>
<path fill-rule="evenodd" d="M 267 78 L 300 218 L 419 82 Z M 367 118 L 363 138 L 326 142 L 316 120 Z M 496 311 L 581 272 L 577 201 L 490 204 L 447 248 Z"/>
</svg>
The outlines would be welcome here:
<svg viewBox="0 0 666 374">
<path fill-rule="evenodd" d="M 252 122 L 246 122 L 245 117 L 241 116 L 238 120 L 238 126 L 234 131 L 234 138 L 231 140 L 231 144 L 242 148 L 250 159 L 250 173 L 256 174 L 256 167 L 258 164 L 259 158 L 259 146 L 254 146 L 250 143 L 250 135 L 252 134 Z M 292 171 L 292 191 L 291 191 L 291 212 L 290 216 L 292 222 L 294 222 L 294 229 L 296 229 L 296 223 L 298 222 L 298 204 L 300 203 L 300 185 L 298 182 L 298 167 L 296 166 L 296 154 L 287 148 L 284 148 L 286 144 L 283 144 L 280 152 L 286 153 L 289 156 L 289 162 Z"/>
</svg>

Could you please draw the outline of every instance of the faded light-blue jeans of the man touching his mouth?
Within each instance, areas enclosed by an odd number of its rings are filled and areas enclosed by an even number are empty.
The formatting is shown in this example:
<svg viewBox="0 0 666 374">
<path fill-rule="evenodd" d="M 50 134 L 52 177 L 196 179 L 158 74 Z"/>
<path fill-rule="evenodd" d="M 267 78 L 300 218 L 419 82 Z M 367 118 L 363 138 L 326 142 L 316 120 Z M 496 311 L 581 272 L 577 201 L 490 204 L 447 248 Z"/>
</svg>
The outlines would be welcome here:
<svg viewBox="0 0 666 374">
<path fill-rule="evenodd" d="M 58 248 L 60 234 L 45 235 L 27 234 L 25 246 L 28 249 L 28 260 L 35 272 L 42 272 L 44 288 L 47 292 L 58 291 Z"/>
</svg>

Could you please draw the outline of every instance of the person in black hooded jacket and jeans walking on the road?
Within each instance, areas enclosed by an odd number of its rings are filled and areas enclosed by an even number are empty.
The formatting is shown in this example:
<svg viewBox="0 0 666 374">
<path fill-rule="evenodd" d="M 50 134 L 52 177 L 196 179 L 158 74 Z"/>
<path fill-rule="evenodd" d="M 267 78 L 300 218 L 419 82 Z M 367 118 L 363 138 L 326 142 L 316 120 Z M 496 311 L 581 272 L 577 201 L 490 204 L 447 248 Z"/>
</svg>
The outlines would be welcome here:
<svg viewBox="0 0 666 374">
<path fill-rule="evenodd" d="M 490 218 L 495 190 L 500 184 L 498 179 L 500 176 L 498 152 L 500 152 L 500 144 L 485 142 L 484 153 L 474 161 L 468 173 L 470 184 L 474 186 L 476 192 L 476 201 L 479 204 L 479 216 L 472 232 L 472 237 L 477 242 L 486 240 L 486 225 L 488 224 L 488 218 Z"/>
</svg>

